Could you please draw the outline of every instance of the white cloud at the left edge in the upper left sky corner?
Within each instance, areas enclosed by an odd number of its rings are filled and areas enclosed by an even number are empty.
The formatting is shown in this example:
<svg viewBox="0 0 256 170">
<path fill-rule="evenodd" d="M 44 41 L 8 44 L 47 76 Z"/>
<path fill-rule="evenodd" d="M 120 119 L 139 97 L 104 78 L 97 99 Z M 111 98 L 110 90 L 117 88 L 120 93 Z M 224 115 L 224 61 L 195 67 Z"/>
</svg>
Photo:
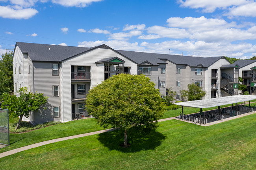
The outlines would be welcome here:
<svg viewBox="0 0 256 170">
<path fill-rule="evenodd" d="M 32 8 L 14 9 L 11 7 L 0 6 L 0 17 L 10 19 L 28 19 L 36 15 L 38 11 Z"/>
</svg>

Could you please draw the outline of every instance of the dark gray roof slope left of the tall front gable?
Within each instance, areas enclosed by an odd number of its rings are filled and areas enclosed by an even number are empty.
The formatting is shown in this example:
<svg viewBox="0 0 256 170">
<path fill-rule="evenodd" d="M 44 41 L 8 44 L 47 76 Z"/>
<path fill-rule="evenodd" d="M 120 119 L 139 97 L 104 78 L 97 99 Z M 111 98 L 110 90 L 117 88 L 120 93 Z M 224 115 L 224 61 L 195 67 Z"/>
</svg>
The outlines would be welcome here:
<svg viewBox="0 0 256 170">
<path fill-rule="evenodd" d="M 28 53 L 32 61 L 63 61 L 90 49 L 84 47 L 58 46 L 17 42 L 22 53 Z M 50 48 L 50 50 L 49 50 Z"/>
</svg>

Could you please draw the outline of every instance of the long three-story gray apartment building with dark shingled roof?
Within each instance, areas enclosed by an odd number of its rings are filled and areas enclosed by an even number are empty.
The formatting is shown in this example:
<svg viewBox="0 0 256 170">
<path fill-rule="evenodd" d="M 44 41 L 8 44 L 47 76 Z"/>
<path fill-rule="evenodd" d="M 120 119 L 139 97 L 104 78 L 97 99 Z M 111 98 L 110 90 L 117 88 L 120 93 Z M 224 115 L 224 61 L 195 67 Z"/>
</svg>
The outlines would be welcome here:
<svg viewBox="0 0 256 170">
<path fill-rule="evenodd" d="M 119 73 L 146 75 L 162 97 L 166 88 L 172 88 L 177 100 L 180 90 L 196 83 L 210 99 L 237 93 L 238 67 L 224 57 L 122 51 L 105 44 L 81 48 L 17 42 L 13 55 L 15 94 L 20 87 L 28 87 L 32 93 L 48 96 L 46 110 L 24 118 L 34 124 L 87 117 L 84 101 L 89 89 Z"/>
</svg>

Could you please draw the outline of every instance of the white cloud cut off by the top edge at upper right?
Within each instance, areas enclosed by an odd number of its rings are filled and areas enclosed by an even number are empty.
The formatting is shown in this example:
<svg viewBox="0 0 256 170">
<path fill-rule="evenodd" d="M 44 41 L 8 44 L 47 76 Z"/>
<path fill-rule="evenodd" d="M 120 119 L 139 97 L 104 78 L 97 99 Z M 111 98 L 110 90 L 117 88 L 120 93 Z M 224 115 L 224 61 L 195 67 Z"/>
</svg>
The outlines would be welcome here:
<svg viewBox="0 0 256 170">
<path fill-rule="evenodd" d="M 226 9 L 227 7 L 244 5 L 250 0 L 178 0 L 182 7 L 193 9 L 202 8 L 203 12 L 212 13 L 215 9 Z"/>
</svg>

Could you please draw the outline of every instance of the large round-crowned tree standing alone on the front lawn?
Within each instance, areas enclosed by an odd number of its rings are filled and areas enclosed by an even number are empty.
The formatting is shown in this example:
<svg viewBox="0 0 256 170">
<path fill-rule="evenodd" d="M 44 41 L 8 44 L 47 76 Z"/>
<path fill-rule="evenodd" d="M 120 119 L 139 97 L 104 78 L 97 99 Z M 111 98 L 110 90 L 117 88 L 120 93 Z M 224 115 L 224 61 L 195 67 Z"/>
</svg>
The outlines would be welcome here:
<svg viewBox="0 0 256 170">
<path fill-rule="evenodd" d="M 114 75 L 89 91 L 86 108 L 100 126 L 123 129 L 127 147 L 130 128 L 155 129 L 163 115 L 161 95 L 154 86 L 144 75 Z"/>
</svg>

